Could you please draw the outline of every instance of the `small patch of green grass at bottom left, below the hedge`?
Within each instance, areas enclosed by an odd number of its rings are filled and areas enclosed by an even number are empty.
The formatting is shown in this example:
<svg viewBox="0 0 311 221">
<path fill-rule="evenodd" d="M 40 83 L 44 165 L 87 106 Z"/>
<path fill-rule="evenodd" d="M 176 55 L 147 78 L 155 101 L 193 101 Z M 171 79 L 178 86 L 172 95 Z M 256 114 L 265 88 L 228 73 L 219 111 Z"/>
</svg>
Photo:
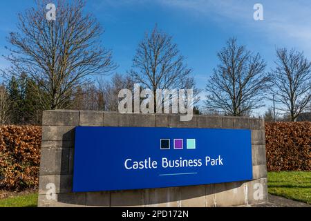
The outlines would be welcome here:
<svg viewBox="0 0 311 221">
<path fill-rule="evenodd" d="M 38 194 L 19 195 L 0 200 L 0 207 L 37 207 Z"/>
</svg>

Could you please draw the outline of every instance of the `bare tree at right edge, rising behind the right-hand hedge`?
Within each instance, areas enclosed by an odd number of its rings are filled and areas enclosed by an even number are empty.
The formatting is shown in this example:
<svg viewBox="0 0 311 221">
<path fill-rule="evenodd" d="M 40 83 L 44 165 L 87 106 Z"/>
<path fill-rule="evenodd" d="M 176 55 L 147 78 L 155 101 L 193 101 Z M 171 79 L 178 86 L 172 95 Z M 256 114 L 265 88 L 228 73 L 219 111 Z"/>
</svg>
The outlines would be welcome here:
<svg viewBox="0 0 311 221">
<path fill-rule="evenodd" d="M 292 122 L 311 102 L 311 62 L 303 52 L 276 49 L 276 68 L 272 70 L 272 93 L 278 109 L 290 115 Z"/>
</svg>

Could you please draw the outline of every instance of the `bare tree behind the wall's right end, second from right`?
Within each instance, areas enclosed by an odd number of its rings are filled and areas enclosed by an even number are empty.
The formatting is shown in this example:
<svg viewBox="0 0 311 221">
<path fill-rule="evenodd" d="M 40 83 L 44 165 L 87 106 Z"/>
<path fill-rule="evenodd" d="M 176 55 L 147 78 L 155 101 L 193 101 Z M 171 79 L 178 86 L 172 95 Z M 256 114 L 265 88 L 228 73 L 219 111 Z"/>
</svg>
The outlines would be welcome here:
<svg viewBox="0 0 311 221">
<path fill-rule="evenodd" d="M 243 116 L 264 106 L 263 92 L 269 77 L 264 73 L 266 65 L 261 56 L 238 46 L 235 38 L 229 39 L 217 56 L 220 64 L 205 89 L 207 109 Z"/>
</svg>

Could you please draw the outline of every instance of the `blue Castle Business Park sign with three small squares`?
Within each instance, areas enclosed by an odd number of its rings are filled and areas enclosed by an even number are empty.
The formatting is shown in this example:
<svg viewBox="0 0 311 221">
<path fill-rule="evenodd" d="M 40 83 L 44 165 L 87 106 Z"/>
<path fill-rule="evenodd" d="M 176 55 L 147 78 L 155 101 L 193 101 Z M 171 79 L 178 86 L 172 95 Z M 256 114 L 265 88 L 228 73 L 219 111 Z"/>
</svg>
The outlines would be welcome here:
<svg viewBox="0 0 311 221">
<path fill-rule="evenodd" d="M 251 131 L 77 127 L 73 191 L 252 180 Z"/>
</svg>

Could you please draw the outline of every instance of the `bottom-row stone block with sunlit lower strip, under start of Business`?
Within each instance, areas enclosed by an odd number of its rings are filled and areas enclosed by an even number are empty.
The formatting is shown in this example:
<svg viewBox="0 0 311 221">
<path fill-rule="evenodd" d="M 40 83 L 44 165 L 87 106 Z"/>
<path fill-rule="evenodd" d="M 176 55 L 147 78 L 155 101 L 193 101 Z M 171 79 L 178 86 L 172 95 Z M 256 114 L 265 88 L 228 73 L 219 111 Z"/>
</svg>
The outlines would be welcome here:
<svg viewBox="0 0 311 221">
<path fill-rule="evenodd" d="M 179 205 L 178 187 L 144 190 L 144 206 L 146 207 L 179 207 Z"/>
</svg>

